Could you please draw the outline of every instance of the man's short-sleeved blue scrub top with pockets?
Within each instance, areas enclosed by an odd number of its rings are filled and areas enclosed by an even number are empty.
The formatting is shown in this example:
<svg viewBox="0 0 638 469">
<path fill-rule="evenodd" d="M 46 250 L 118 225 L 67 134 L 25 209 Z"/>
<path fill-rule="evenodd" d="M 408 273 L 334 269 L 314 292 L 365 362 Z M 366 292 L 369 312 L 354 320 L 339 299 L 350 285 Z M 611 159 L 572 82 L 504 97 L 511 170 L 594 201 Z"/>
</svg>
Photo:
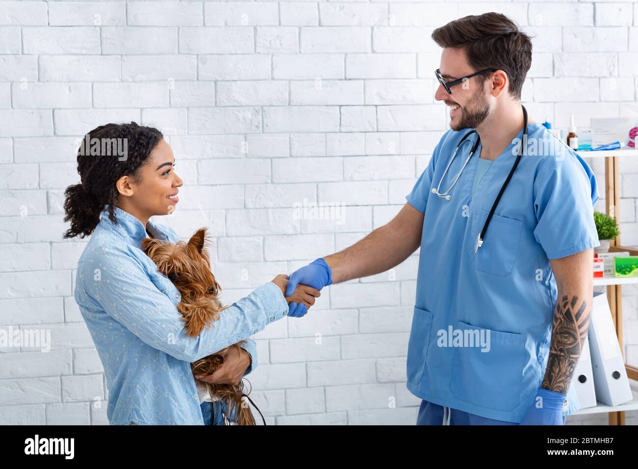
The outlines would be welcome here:
<svg viewBox="0 0 638 469">
<path fill-rule="evenodd" d="M 549 357 L 558 293 L 549 260 L 600 246 L 593 220 L 598 188 L 579 155 L 540 124 L 529 123 L 529 154 L 521 157 L 475 253 L 477 235 L 516 161 L 523 130 L 494 160 L 475 193 L 480 145 L 450 191 L 451 200 L 439 198 L 431 190 L 468 131 L 443 135 L 406 196 L 425 214 L 407 387 L 438 405 L 520 422 Z M 477 135 L 469 138 L 475 142 Z M 441 192 L 454 181 L 470 148 L 464 143 L 457 153 Z M 565 415 L 580 408 L 573 387 L 567 399 Z"/>
</svg>

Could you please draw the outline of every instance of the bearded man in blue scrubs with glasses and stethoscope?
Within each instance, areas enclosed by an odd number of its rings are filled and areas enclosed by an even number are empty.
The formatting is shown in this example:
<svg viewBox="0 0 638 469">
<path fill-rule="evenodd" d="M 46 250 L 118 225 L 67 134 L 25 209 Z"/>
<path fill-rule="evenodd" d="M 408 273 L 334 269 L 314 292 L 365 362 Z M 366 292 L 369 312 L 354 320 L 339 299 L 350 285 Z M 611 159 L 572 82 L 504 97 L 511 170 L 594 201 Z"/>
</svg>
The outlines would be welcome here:
<svg viewBox="0 0 638 469">
<path fill-rule="evenodd" d="M 407 387 L 422 399 L 417 423 L 564 424 L 579 409 L 570 382 L 600 245 L 595 177 L 538 123 L 523 144 L 531 41 L 514 22 L 486 13 L 432 36 L 443 48 L 434 97 L 450 107 L 450 130 L 394 220 L 293 272 L 288 289 L 387 271 L 420 246 L 407 359 Z"/>
</svg>

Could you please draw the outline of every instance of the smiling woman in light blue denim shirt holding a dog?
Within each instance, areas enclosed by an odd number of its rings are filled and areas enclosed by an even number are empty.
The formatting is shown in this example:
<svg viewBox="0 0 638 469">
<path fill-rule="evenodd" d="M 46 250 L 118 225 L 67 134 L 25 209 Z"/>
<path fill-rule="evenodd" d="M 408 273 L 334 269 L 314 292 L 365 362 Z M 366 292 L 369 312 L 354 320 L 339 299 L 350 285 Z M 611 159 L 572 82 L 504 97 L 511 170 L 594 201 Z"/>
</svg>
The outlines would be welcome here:
<svg viewBox="0 0 638 469">
<path fill-rule="evenodd" d="M 91 235 L 78 261 L 75 301 L 104 366 L 110 424 L 223 424 L 223 403 L 200 392 L 190 363 L 244 341 L 202 380 L 235 385 L 255 369 L 249 336 L 288 313 L 293 300 L 284 296 L 286 276 L 256 288 L 225 308 L 214 327 L 189 336 L 179 290 L 142 251 L 147 236 L 179 241 L 170 227 L 149 221 L 174 211 L 182 186 L 162 133 L 136 123 L 100 126 L 85 136 L 77 162 L 82 182 L 65 192 L 64 221 L 71 227 L 64 237 Z M 318 295 L 293 298 L 310 305 Z"/>
</svg>

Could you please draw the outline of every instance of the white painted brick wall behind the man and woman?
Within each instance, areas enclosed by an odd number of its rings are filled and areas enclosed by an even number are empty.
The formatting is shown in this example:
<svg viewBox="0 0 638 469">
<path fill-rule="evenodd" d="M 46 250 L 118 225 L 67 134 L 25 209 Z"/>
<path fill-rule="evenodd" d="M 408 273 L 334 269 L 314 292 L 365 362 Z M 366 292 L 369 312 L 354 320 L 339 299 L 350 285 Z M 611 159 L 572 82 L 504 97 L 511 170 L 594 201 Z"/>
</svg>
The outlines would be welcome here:
<svg viewBox="0 0 638 469">
<path fill-rule="evenodd" d="M 536 36 L 523 89 L 535 120 L 638 115 L 638 3 L 0 0 L 0 327 L 52 340 L 48 353 L 0 348 L 0 422 L 107 424 L 73 301 L 86 240 L 61 238 L 76 138 L 131 120 L 167 135 L 185 186 L 163 221 L 183 237 L 210 228 L 232 302 L 401 209 L 447 129 L 431 31 L 490 10 Z M 622 239 L 635 245 L 638 163 L 621 160 L 621 174 Z M 343 218 L 295 216 L 313 202 L 345 204 Z M 326 288 L 306 318 L 255 337 L 250 380 L 269 424 L 415 422 L 404 370 L 417 256 Z M 638 288 L 623 295 L 638 363 Z"/>
</svg>

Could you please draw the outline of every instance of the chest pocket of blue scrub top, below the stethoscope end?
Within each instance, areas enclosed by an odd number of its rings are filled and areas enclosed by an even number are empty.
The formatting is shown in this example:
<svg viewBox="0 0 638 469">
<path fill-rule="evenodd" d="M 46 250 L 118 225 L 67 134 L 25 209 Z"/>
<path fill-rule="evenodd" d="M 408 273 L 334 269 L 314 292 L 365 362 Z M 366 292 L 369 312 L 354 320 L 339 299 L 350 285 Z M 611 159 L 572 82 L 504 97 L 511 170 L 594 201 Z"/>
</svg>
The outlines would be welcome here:
<svg viewBox="0 0 638 469">
<path fill-rule="evenodd" d="M 514 269 L 514 262 L 516 262 L 521 244 L 523 221 L 494 213 L 489 222 L 483 245 L 477 252 L 474 252 L 476 238 L 483 229 L 488 214 L 489 212 L 486 210 L 478 209 L 474 215 L 470 260 L 477 271 L 505 277 Z"/>
</svg>

